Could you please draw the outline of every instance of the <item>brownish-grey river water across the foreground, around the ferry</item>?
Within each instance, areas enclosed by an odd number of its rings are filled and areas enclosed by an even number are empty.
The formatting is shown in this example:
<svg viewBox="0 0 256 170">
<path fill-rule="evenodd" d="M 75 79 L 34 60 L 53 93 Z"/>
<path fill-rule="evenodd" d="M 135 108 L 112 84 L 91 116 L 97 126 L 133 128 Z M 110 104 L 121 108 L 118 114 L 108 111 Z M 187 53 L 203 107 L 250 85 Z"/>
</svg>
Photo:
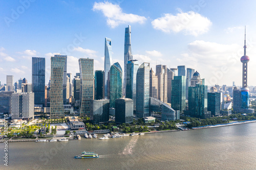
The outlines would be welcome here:
<svg viewBox="0 0 256 170">
<path fill-rule="evenodd" d="M 256 123 L 68 142 L 9 142 L 0 169 L 256 169 Z M 101 135 L 98 135 L 99 137 Z M 99 158 L 74 159 L 82 151 Z M 4 144 L 0 143 L 3 159 Z"/>
</svg>

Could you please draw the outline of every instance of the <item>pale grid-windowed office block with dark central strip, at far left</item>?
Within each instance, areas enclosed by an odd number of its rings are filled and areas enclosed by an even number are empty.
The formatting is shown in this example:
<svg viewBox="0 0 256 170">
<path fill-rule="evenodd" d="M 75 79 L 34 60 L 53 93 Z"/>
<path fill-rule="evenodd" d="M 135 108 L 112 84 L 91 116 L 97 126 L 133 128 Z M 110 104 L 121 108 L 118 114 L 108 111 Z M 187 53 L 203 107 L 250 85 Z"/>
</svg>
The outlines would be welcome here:
<svg viewBox="0 0 256 170">
<path fill-rule="evenodd" d="M 34 93 L 12 93 L 12 119 L 34 119 Z"/>
</svg>

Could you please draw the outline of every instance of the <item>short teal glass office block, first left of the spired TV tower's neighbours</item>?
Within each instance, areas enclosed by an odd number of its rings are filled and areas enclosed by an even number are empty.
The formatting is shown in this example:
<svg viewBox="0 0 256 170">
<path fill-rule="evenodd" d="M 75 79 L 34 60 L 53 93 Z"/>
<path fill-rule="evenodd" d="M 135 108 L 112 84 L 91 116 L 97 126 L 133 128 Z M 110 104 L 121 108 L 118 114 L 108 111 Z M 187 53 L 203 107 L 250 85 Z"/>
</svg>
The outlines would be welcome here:
<svg viewBox="0 0 256 170">
<path fill-rule="evenodd" d="M 207 110 L 211 112 L 211 116 L 218 116 L 221 110 L 221 93 L 207 93 Z"/>
</svg>

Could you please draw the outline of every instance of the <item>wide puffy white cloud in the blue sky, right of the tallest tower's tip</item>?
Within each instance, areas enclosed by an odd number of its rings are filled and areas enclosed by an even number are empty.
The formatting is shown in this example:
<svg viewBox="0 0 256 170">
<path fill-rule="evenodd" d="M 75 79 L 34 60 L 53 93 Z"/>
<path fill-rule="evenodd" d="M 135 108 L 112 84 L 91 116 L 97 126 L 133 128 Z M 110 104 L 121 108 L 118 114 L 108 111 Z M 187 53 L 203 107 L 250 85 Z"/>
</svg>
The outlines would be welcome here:
<svg viewBox="0 0 256 170">
<path fill-rule="evenodd" d="M 164 14 L 163 17 L 153 20 L 151 22 L 153 28 L 166 33 L 183 31 L 185 35 L 194 36 L 208 32 L 212 23 L 207 17 L 194 11 L 182 12 L 180 9 L 178 10 L 177 15 Z"/>
</svg>

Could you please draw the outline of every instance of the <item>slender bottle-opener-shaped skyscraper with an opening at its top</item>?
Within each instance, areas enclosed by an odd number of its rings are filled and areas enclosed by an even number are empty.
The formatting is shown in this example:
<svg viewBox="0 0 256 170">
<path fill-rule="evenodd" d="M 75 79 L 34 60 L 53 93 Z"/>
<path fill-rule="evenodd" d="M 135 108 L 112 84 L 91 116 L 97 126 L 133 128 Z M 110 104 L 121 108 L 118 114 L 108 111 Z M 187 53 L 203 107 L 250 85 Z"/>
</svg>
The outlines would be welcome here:
<svg viewBox="0 0 256 170">
<path fill-rule="evenodd" d="M 104 58 L 104 73 L 105 73 L 105 97 L 108 96 L 108 72 L 111 67 L 112 59 L 112 41 L 110 38 L 105 38 L 105 58 Z"/>
</svg>

